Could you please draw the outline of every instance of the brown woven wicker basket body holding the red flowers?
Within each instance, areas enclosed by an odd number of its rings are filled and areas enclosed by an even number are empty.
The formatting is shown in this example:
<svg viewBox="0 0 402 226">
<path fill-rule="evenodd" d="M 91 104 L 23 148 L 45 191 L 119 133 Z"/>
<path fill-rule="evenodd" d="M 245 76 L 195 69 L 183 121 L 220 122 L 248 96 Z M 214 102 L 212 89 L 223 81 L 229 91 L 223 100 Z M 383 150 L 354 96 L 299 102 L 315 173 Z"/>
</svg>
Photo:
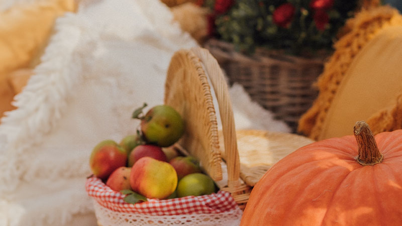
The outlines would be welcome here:
<svg viewBox="0 0 402 226">
<path fill-rule="evenodd" d="M 232 44 L 216 39 L 208 40 L 204 47 L 218 60 L 231 84 L 243 85 L 252 100 L 296 132 L 300 116 L 318 95 L 313 84 L 328 55 L 304 58 L 257 49 L 247 56 L 236 52 Z"/>
</svg>

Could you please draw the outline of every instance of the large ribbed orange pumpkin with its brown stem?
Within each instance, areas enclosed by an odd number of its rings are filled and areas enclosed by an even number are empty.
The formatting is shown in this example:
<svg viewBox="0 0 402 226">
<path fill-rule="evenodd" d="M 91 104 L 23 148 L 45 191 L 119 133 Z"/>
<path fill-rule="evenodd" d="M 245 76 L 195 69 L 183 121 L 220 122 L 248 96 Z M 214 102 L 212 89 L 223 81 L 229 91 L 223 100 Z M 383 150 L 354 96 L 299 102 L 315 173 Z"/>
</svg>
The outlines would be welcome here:
<svg viewBox="0 0 402 226">
<path fill-rule="evenodd" d="M 241 225 L 402 225 L 402 130 L 299 148 L 253 188 Z"/>
</svg>

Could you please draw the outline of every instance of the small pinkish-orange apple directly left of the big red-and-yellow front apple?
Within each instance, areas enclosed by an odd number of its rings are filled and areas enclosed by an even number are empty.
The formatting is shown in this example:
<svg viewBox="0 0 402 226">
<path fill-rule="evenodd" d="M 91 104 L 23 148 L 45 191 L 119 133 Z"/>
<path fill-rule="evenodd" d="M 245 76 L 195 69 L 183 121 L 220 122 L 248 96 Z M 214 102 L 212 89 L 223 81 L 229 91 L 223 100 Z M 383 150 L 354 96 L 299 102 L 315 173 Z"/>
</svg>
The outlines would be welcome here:
<svg viewBox="0 0 402 226">
<path fill-rule="evenodd" d="M 106 185 L 114 191 L 131 189 L 130 186 L 131 167 L 119 167 L 109 176 Z"/>
</svg>

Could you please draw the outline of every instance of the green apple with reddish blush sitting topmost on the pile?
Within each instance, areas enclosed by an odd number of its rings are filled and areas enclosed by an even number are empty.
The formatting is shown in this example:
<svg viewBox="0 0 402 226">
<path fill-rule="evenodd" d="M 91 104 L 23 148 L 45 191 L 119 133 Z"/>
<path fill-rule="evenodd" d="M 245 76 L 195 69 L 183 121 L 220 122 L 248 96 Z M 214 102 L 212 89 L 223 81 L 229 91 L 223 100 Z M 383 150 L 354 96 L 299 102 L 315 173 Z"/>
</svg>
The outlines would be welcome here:
<svg viewBox="0 0 402 226">
<path fill-rule="evenodd" d="M 141 120 L 141 132 L 146 142 L 160 147 L 176 143 L 184 133 L 184 122 L 171 106 L 157 105 Z"/>
</svg>

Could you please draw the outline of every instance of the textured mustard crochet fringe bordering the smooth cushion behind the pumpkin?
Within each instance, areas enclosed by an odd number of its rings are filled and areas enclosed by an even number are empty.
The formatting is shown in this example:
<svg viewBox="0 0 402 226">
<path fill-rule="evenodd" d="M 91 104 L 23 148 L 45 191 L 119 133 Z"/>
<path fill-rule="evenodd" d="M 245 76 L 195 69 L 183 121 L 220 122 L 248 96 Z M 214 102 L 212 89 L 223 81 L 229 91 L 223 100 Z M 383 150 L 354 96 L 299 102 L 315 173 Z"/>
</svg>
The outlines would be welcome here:
<svg viewBox="0 0 402 226">
<path fill-rule="evenodd" d="M 327 119 L 328 111 L 334 104 L 336 94 L 341 91 L 339 90 L 340 84 L 352 62 L 363 47 L 380 31 L 392 26 L 402 26 L 402 16 L 389 6 L 363 10 L 347 22 L 346 34 L 335 43 L 335 52 L 318 79 L 319 95 L 313 106 L 299 120 L 299 133 L 314 140 L 326 138 L 322 135 L 324 122 L 329 120 Z M 387 91 L 384 90 L 384 92 Z M 402 97 L 399 95 L 392 106 L 377 109 L 375 114 L 366 119 L 374 134 L 402 128 L 401 104 Z"/>
</svg>

